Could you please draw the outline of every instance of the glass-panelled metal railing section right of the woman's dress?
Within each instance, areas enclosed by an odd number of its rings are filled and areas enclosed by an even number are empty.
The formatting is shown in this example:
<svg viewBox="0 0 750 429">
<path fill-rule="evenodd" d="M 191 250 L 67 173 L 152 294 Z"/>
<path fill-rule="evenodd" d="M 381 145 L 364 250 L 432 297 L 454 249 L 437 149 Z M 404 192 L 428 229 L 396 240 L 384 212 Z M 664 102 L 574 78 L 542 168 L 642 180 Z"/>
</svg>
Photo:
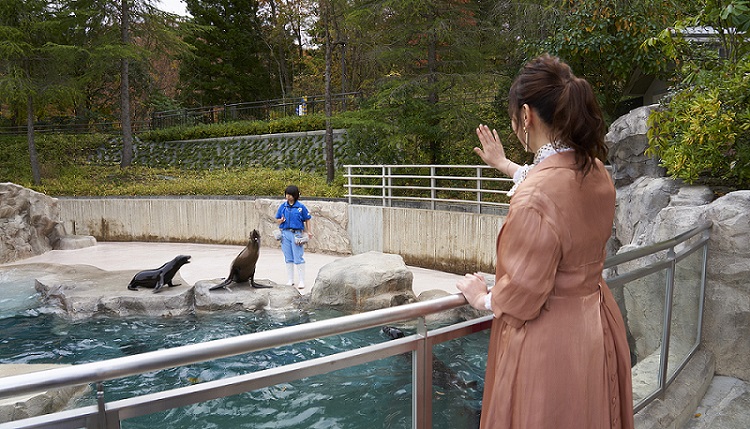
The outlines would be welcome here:
<svg viewBox="0 0 750 429">
<path fill-rule="evenodd" d="M 641 297 L 634 301 L 633 313 L 658 316 L 661 311 L 661 320 L 641 316 L 640 328 L 661 335 L 642 339 L 642 344 L 636 339 L 638 363 L 658 371 L 643 392 L 634 392 L 635 412 L 664 395 L 701 344 L 712 226 L 705 222 L 669 240 L 607 258 L 604 264 L 605 272 L 611 270 L 606 280 L 610 289 L 628 288 Z M 627 271 L 620 272 L 624 267 Z"/>
</svg>

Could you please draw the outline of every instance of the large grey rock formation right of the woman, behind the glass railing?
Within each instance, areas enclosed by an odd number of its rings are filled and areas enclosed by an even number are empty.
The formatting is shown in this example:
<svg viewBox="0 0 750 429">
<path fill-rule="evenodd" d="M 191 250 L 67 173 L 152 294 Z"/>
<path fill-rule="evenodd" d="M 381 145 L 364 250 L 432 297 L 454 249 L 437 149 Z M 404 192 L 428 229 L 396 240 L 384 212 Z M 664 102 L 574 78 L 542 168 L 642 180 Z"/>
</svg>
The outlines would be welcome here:
<svg viewBox="0 0 750 429">
<path fill-rule="evenodd" d="M 617 251 L 622 253 L 712 221 L 702 341 L 715 356 L 717 374 L 750 380 L 750 341 L 744 340 L 750 337 L 750 191 L 731 192 L 714 199 L 706 186 L 689 186 L 658 177 L 655 161 L 648 160 L 642 152 L 647 142 L 648 111 L 632 111 L 618 119 L 612 125 L 614 131 L 607 134 L 617 185 L 612 247 L 619 247 Z M 628 125 L 618 128 L 618 123 Z M 688 282 L 699 280 L 699 253 L 680 262 L 676 272 L 675 283 L 682 287 L 676 286 L 674 294 L 675 347 L 687 347 L 692 341 L 691 327 L 697 323 L 698 300 L 692 296 L 697 285 Z M 663 284 L 661 278 L 643 279 L 642 283 L 645 281 Z M 661 328 L 657 325 L 661 324 L 664 297 L 663 291 L 657 289 L 634 282 L 625 291 L 625 317 L 639 358 L 652 353 L 660 341 Z"/>
</svg>

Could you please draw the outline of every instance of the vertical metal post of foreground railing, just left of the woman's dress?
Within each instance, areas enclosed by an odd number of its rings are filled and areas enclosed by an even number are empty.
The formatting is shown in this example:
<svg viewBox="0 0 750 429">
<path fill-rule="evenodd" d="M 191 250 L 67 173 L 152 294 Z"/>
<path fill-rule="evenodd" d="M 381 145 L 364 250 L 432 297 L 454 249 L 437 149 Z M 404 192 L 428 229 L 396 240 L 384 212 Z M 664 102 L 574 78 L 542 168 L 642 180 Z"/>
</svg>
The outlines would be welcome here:
<svg viewBox="0 0 750 429">
<path fill-rule="evenodd" d="M 420 338 L 412 353 L 412 428 L 432 428 L 432 345 L 427 342 L 424 317 L 417 319 Z"/>
</svg>

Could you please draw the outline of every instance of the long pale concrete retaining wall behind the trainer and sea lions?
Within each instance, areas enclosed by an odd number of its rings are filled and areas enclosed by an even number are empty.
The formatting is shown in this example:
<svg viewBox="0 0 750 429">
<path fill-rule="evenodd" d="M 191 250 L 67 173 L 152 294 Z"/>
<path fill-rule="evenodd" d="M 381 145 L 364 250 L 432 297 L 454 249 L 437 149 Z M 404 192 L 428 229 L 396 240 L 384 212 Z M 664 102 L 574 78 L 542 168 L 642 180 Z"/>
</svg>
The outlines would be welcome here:
<svg viewBox="0 0 750 429">
<path fill-rule="evenodd" d="M 399 254 L 409 265 L 445 272 L 494 272 L 495 239 L 503 217 L 489 214 L 369 207 L 302 201 L 313 215 L 311 252 Z M 257 229 L 272 238 L 281 199 L 60 198 L 66 233 L 99 241 L 244 245 Z"/>
</svg>

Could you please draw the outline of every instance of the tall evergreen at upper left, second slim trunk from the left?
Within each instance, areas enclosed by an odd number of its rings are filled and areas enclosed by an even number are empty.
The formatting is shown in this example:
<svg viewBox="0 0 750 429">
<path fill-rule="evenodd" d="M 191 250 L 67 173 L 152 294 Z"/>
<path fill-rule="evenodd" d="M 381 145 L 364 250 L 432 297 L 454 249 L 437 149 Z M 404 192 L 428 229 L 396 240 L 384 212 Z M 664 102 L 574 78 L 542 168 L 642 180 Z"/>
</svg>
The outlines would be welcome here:
<svg viewBox="0 0 750 429">
<path fill-rule="evenodd" d="M 175 19 L 158 11 L 154 0 L 61 0 L 67 27 L 65 37 L 85 49 L 87 61 L 79 64 L 78 81 L 86 115 L 113 116 L 119 110 L 122 127 L 121 167 L 133 160 L 134 109 L 153 94 L 149 73 L 148 41 L 170 47 L 175 43 Z M 119 103 L 115 102 L 118 100 Z M 135 102 L 134 102 L 135 101 Z M 77 106 L 81 108 L 80 104 Z M 141 109 L 141 119 L 143 113 Z M 91 113 L 95 112 L 95 113 Z"/>
</svg>

